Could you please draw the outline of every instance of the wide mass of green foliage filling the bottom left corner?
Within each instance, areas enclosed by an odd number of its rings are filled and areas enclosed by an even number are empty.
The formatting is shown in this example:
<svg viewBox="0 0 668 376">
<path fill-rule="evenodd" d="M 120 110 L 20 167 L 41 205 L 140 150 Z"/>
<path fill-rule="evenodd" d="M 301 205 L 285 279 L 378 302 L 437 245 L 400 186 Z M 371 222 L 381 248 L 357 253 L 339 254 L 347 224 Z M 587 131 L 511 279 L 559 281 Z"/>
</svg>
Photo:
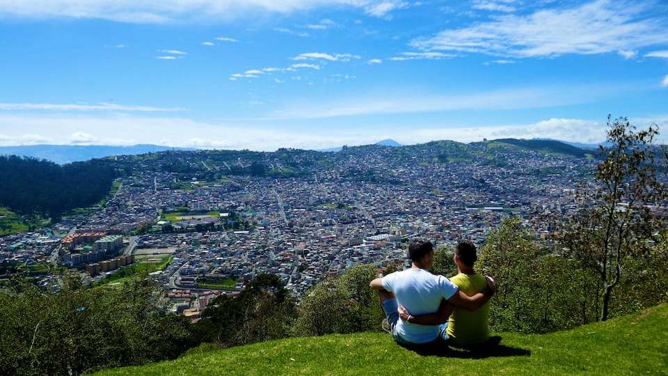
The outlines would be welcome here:
<svg viewBox="0 0 668 376">
<path fill-rule="evenodd" d="M 140 281 L 121 291 L 68 278 L 54 294 L 19 283 L 0 293 L 0 333 L 6 375 L 79 375 L 173 359 L 194 345 L 189 323 L 164 313 Z"/>
</svg>

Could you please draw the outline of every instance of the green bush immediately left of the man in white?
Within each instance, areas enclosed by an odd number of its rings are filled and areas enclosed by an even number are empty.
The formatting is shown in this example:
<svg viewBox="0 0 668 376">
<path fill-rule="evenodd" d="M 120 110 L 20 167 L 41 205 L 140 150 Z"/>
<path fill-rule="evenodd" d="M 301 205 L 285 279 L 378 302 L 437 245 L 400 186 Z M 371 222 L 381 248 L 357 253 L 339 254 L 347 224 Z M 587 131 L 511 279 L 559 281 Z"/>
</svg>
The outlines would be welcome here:
<svg viewBox="0 0 668 376">
<path fill-rule="evenodd" d="M 298 336 L 377 331 L 383 320 L 378 294 L 369 288 L 374 265 L 355 265 L 337 279 L 319 283 L 301 301 L 294 324 Z"/>
</svg>

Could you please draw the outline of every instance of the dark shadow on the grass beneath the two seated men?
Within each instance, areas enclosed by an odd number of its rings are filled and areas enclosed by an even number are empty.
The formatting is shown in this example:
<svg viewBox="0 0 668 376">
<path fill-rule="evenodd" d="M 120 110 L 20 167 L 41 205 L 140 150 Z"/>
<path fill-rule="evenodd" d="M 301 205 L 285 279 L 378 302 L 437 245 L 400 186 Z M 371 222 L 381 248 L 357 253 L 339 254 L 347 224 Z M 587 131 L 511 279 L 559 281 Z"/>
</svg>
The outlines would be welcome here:
<svg viewBox="0 0 668 376">
<path fill-rule="evenodd" d="M 480 345 L 454 345 L 437 342 L 426 345 L 401 345 L 422 357 L 449 357 L 461 359 L 485 359 L 490 357 L 529 357 L 530 350 L 502 345 L 501 337 L 492 337 Z"/>
</svg>

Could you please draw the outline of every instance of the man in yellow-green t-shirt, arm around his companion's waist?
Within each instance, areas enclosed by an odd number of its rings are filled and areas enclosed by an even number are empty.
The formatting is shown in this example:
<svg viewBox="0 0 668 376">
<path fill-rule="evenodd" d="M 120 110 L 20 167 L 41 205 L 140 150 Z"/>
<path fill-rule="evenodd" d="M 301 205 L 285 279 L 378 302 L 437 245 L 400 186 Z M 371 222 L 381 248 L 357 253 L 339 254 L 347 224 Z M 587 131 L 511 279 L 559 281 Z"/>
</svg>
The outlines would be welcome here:
<svg viewBox="0 0 668 376">
<path fill-rule="evenodd" d="M 476 273 L 473 265 L 477 260 L 475 245 L 470 242 L 461 242 L 454 249 L 454 263 L 457 265 L 456 276 L 452 276 L 450 281 L 454 283 L 459 291 L 466 295 L 475 295 L 487 288 L 486 277 Z M 399 317 L 411 317 L 412 311 L 399 306 Z M 463 308 L 454 307 L 452 313 L 449 313 L 447 307 L 440 309 L 438 313 L 431 315 L 413 316 L 413 322 L 416 324 L 431 324 L 432 322 L 443 322 L 447 320 L 446 315 L 450 315 L 447 321 L 447 337 L 450 343 L 456 345 L 478 345 L 486 343 L 489 337 L 489 302 L 486 302 L 476 311 L 468 311 Z"/>
</svg>

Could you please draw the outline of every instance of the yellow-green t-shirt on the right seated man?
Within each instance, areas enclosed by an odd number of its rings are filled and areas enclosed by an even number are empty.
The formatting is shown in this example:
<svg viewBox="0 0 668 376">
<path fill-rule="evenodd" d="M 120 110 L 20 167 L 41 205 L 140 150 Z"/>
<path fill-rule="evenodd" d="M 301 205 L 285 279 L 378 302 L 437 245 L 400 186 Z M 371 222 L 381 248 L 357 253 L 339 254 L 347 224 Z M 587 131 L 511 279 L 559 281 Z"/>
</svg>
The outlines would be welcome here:
<svg viewBox="0 0 668 376">
<path fill-rule="evenodd" d="M 482 274 L 459 273 L 450 278 L 466 295 L 474 295 L 485 290 L 487 281 Z M 447 335 L 455 343 L 481 343 L 489 339 L 489 301 L 477 311 L 454 308 L 447 323 Z"/>
</svg>

